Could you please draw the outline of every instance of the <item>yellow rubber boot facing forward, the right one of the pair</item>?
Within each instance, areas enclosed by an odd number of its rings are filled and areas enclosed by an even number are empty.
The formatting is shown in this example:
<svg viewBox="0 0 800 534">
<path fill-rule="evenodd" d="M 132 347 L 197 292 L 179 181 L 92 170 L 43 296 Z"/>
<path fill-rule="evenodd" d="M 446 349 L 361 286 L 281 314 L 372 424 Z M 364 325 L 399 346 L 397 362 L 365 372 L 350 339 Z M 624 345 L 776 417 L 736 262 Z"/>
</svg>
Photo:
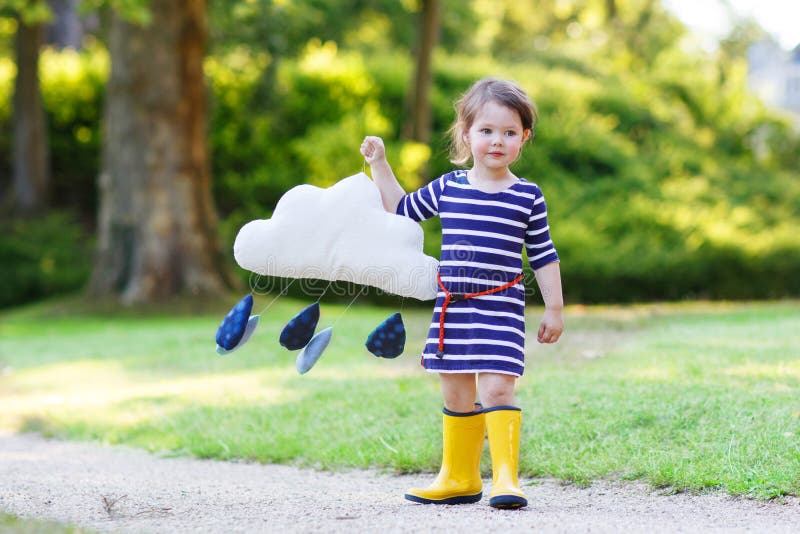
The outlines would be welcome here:
<svg viewBox="0 0 800 534">
<path fill-rule="evenodd" d="M 489 506 L 522 508 L 528 499 L 519 488 L 519 438 L 522 410 L 515 406 L 496 406 L 484 410 L 492 455 L 492 491 Z"/>
</svg>

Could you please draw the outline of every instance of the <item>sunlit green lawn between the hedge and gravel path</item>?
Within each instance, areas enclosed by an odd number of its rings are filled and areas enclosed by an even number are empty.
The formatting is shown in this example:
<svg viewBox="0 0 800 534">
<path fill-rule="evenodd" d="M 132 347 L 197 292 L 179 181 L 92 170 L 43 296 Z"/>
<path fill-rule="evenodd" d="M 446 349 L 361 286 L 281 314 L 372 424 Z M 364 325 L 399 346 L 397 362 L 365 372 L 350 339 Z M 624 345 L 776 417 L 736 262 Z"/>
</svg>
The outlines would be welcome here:
<svg viewBox="0 0 800 534">
<path fill-rule="evenodd" d="M 218 356 L 235 302 L 92 311 L 66 301 L 0 315 L 0 427 L 175 455 L 320 468 L 435 471 L 441 399 L 418 365 L 430 311 L 405 309 L 396 360 L 364 348 L 395 310 L 322 303 L 335 325 L 306 375 L 278 345 L 305 302 L 281 299 L 251 341 Z M 259 297 L 256 310 L 268 299 Z M 75 311 L 71 311 L 75 310 Z M 585 484 L 642 479 L 664 491 L 800 494 L 797 302 L 574 307 L 555 346 L 528 342 L 518 388 L 521 471 Z M 530 308 L 529 335 L 540 309 Z M 484 462 L 488 473 L 489 462 Z"/>
</svg>

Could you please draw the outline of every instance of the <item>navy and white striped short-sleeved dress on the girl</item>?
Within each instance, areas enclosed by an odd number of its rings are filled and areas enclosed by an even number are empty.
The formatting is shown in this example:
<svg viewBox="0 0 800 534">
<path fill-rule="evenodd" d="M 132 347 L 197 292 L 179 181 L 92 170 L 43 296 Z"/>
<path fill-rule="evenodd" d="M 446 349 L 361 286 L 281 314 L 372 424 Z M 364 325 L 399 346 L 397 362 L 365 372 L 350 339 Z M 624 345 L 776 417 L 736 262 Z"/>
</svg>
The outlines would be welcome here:
<svg viewBox="0 0 800 534">
<path fill-rule="evenodd" d="M 442 251 L 439 275 L 450 293 L 477 293 L 503 286 L 522 273 L 522 248 L 534 270 L 558 261 L 547 206 L 539 187 L 520 179 L 499 193 L 474 188 L 464 170 L 452 171 L 405 195 L 397 213 L 415 221 L 439 215 Z M 525 369 L 525 288 L 511 288 L 453 302 L 445 313 L 444 357 L 437 357 L 436 297 L 422 365 L 438 373 L 502 373 Z"/>
</svg>

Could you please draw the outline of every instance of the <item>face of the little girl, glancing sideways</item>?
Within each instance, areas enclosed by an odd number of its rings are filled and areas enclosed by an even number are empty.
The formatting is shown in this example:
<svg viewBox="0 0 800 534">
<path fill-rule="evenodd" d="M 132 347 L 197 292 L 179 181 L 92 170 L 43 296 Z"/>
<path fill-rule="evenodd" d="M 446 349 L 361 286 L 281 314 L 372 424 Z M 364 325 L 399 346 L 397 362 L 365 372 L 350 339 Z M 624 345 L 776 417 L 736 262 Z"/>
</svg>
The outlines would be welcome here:
<svg viewBox="0 0 800 534">
<path fill-rule="evenodd" d="M 478 111 L 465 141 L 476 167 L 503 170 L 517 159 L 528 136 L 519 113 L 489 101 Z"/>
</svg>

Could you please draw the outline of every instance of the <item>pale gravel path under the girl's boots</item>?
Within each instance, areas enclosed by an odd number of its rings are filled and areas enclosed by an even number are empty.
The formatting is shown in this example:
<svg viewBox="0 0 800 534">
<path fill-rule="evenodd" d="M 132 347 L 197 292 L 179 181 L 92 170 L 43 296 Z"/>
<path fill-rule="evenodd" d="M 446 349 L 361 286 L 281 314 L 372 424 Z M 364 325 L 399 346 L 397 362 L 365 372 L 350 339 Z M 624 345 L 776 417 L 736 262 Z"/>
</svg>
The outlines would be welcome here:
<svg viewBox="0 0 800 534">
<path fill-rule="evenodd" d="M 798 532 L 800 499 L 660 495 L 642 484 L 535 481 L 530 505 L 406 502 L 429 476 L 162 458 L 0 434 L 0 510 L 115 532 Z M 490 481 L 489 481 L 490 482 Z M 524 482 L 524 481 L 523 481 Z M 488 486 L 488 483 L 485 485 Z M 487 493 L 484 487 L 484 494 Z"/>
</svg>

